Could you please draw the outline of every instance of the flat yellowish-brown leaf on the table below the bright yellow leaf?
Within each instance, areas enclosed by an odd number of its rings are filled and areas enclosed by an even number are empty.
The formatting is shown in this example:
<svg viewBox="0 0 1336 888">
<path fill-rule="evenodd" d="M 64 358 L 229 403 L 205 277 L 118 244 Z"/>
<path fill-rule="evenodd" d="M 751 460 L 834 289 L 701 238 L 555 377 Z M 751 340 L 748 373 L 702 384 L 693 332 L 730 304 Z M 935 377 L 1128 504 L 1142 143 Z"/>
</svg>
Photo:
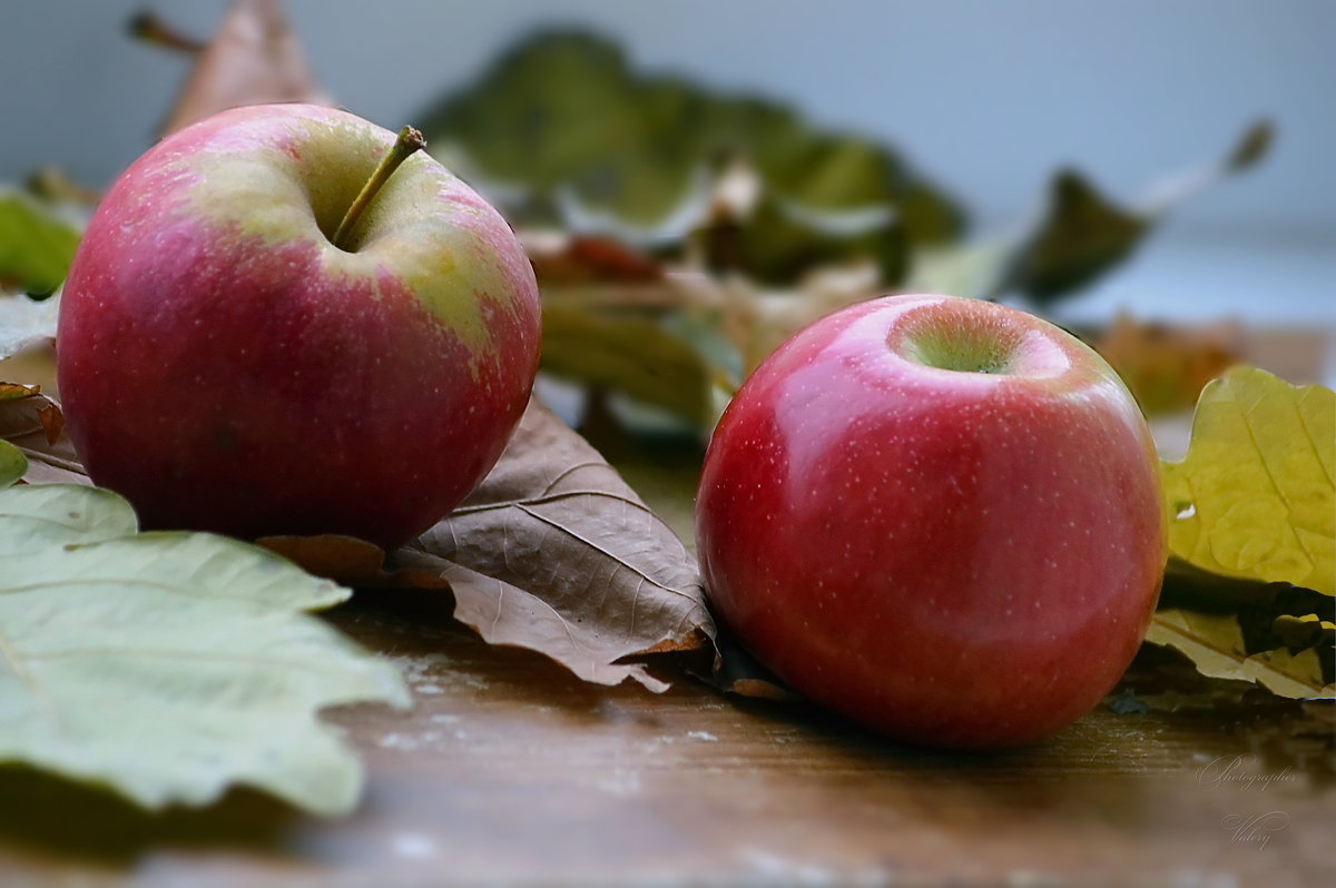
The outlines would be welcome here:
<svg viewBox="0 0 1336 888">
<path fill-rule="evenodd" d="M 1256 681 L 1281 697 L 1332 697 L 1336 688 L 1323 681 L 1321 662 L 1312 648 L 1248 654 L 1238 618 L 1192 610 L 1160 610 L 1146 641 L 1176 648 L 1212 678 Z"/>
</svg>

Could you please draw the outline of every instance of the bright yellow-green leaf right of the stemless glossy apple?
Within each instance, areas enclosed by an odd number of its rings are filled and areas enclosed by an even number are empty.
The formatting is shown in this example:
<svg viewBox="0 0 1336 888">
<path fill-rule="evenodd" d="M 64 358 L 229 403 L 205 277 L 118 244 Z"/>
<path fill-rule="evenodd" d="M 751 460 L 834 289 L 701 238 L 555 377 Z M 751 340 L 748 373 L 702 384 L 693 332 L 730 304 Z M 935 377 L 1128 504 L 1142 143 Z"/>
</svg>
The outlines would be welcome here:
<svg viewBox="0 0 1336 888">
<path fill-rule="evenodd" d="M 1336 594 L 1336 394 L 1238 367 L 1165 463 L 1169 553 L 1210 573 Z"/>
</svg>

